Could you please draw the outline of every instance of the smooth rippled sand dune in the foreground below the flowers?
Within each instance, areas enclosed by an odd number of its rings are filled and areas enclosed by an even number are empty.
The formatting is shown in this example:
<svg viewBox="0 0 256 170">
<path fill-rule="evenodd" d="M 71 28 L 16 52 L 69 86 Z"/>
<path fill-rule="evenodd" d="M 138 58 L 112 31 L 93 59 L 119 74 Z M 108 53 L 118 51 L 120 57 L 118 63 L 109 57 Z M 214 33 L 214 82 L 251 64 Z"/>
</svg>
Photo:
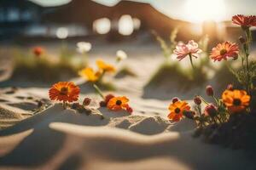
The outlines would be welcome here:
<svg viewBox="0 0 256 170">
<path fill-rule="evenodd" d="M 186 119 L 173 123 L 160 116 L 130 116 L 107 110 L 93 110 L 87 116 L 53 105 L 0 131 L 0 167 L 47 170 L 255 167 L 243 150 L 224 149 L 193 139 L 193 128 Z"/>
</svg>

